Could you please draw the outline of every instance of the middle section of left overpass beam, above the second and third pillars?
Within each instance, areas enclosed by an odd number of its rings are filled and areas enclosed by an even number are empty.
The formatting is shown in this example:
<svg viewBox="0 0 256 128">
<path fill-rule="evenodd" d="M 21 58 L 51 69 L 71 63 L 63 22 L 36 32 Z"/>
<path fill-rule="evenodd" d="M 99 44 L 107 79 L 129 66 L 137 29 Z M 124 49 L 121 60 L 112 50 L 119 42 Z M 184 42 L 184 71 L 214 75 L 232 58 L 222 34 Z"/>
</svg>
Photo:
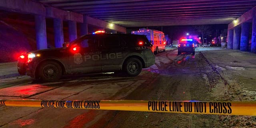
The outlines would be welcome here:
<svg viewBox="0 0 256 128">
<path fill-rule="evenodd" d="M 54 7 L 46 7 L 46 16 L 50 18 L 58 18 L 62 20 L 71 20 L 76 22 L 83 22 L 83 15 L 76 13 L 76 12 L 70 12 L 65 10 L 60 10 Z"/>
</svg>

